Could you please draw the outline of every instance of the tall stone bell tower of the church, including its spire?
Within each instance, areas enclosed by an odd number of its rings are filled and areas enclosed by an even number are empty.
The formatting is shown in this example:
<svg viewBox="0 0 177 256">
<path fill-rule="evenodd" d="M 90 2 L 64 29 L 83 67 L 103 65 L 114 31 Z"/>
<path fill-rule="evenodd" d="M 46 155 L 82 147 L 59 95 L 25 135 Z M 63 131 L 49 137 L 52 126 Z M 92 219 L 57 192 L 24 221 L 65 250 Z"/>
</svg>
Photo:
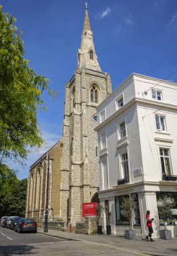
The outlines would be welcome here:
<svg viewBox="0 0 177 256">
<path fill-rule="evenodd" d="M 82 203 L 94 201 L 99 189 L 96 107 L 111 92 L 110 75 L 98 63 L 86 4 L 78 66 L 65 87 L 61 138 L 61 218 L 73 225 L 83 220 Z"/>
</svg>

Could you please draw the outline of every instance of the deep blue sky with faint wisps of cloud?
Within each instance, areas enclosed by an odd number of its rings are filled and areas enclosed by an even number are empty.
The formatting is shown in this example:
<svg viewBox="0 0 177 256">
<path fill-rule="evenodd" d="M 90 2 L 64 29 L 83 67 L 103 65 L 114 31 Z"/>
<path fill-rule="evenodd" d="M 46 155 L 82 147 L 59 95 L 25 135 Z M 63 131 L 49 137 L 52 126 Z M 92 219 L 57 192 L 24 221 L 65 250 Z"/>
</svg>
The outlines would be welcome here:
<svg viewBox="0 0 177 256">
<path fill-rule="evenodd" d="M 38 122 L 48 146 L 32 150 L 19 179 L 28 177 L 30 165 L 59 140 L 65 102 L 65 82 L 77 67 L 77 49 L 85 15 L 85 0 L 1 0 L 24 32 L 25 58 L 37 74 L 50 79 L 55 100 L 44 95 L 48 111 Z M 164 79 L 177 70 L 176 0 L 90 0 L 89 17 L 98 61 L 110 73 L 112 90 L 131 73 Z M 177 72 L 168 79 L 177 82 Z"/>
</svg>

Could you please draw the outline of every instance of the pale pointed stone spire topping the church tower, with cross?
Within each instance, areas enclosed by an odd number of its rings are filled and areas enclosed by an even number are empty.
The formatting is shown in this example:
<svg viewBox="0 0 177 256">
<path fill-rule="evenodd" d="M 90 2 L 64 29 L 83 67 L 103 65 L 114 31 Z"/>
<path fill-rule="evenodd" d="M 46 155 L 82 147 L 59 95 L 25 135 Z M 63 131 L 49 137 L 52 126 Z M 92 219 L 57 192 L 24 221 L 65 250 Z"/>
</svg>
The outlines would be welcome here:
<svg viewBox="0 0 177 256">
<path fill-rule="evenodd" d="M 90 27 L 90 20 L 85 3 L 85 19 L 81 36 L 81 47 L 78 50 L 78 67 L 101 71 L 94 47 L 93 33 Z"/>
</svg>

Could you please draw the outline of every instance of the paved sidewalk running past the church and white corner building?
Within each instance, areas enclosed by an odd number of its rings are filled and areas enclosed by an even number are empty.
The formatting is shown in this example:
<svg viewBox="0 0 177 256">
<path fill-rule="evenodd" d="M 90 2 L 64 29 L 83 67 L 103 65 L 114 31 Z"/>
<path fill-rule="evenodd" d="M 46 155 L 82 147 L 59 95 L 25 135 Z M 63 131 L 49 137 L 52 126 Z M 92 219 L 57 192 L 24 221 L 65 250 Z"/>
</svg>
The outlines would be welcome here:
<svg viewBox="0 0 177 256">
<path fill-rule="evenodd" d="M 38 233 L 48 236 L 55 236 L 70 241 L 85 241 L 89 243 L 97 243 L 98 246 L 108 245 L 109 247 L 117 247 L 121 250 L 135 252 L 136 255 L 177 255 L 177 237 L 170 240 L 154 238 L 155 242 L 146 241 L 145 236 L 136 236 L 134 240 L 129 240 L 123 235 L 106 235 L 106 234 L 76 234 L 75 232 L 63 232 L 59 230 L 48 229 L 44 233 L 42 228 L 38 228 Z"/>
</svg>

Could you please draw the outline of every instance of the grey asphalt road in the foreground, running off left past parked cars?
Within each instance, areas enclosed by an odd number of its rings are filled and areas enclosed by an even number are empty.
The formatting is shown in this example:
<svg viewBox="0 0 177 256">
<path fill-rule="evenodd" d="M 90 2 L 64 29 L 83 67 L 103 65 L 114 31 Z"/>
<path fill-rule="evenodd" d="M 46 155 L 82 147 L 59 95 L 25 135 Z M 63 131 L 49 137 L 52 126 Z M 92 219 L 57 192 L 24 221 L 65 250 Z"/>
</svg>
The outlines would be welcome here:
<svg viewBox="0 0 177 256">
<path fill-rule="evenodd" d="M 68 241 L 40 233 L 20 233 L 0 227 L 0 256 L 135 256 L 145 255 L 116 245 L 89 241 Z"/>
</svg>

